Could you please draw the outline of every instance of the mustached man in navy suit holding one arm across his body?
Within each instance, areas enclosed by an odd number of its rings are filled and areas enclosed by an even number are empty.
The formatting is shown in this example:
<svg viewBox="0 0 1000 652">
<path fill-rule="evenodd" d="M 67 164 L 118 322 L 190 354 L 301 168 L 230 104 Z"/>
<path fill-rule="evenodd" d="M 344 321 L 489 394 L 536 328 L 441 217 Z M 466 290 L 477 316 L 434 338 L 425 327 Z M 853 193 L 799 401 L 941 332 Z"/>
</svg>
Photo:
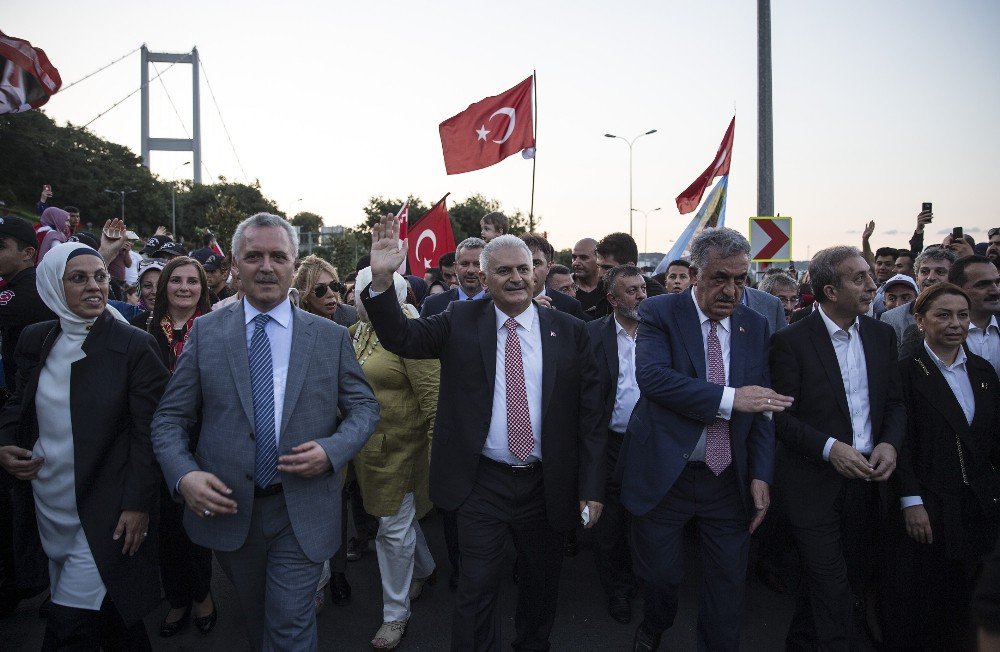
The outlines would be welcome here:
<svg viewBox="0 0 1000 652">
<path fill-rule="evenodd" d="M 703 546 L 698 648 L 736 650 L 750 533 L 767 513 L 774 426 L 792 399 L 769 389 L 767 321 L 741 302 L 750 243 L 733 229 L 691 242 L 691 290 L 639 305 L 640 398 L 621 452 L 621 501 L 633 514 L 645 603 L 634 650 L 655 650 L 677 614 L 685 524 Z"/>
</svg>

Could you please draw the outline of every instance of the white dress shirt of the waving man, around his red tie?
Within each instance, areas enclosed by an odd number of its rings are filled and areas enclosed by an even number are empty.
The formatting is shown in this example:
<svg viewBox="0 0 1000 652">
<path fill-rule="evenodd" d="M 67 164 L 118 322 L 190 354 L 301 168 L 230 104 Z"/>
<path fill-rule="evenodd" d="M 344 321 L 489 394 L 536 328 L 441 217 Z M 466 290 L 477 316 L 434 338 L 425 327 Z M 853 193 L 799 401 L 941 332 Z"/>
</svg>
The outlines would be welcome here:
<svg viewBox="0 0 1000 652">
<path fill-rule="evenodd" d="M 461 294 L 461 291 L 459 291 Z M 483 455 L 505 464 L 525 464 L 542 459 L 542 333 L 538 307 L 532 303 L 515 317 L 517 337 L 521 342 L 521 366 L 528 396 L 528 415 L 535 447 L 528 459 L 521 461 L 510 452 L 507 436 L 507 325 L 508 315 L 493 306 L 497 318 L 497 369 L 493 385 L 493 415 L 486 435 Z"/>
</svg>

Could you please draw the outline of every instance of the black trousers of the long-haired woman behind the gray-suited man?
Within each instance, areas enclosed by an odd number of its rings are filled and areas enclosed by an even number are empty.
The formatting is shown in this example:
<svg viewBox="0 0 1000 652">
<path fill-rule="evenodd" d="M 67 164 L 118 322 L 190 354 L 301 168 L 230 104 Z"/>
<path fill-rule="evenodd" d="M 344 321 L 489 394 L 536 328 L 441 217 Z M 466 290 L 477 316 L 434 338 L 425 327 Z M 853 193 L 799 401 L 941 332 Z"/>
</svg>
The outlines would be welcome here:
<svg viewBox="0 0 1000 652">
<path fill-rule="evenodd" d="M 212 551 L 191 543 L 184 530 L 185 509 L 166 491 L 160 497 L 160 579 L 172 609 L 203 601 L 212 587 Z"/>
</svg>

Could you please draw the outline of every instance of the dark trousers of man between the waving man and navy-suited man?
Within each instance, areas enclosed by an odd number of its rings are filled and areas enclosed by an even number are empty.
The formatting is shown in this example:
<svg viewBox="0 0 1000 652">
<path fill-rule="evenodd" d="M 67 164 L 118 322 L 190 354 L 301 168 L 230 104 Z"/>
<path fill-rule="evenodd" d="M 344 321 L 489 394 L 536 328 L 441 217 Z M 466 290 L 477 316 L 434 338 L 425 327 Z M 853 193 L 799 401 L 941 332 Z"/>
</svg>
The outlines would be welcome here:
<svg viewBox="0 0 1000 652">
<path fill-rule="evenodd" d="M 629 597 L 635 592 L 632 576 L 632 556 L 628 549 L 631 515 L 622 507 L 622 483 L 615 467 L 622 447 L 621 433 L 608 431 L 605 450 L 607 481 L 604 489 L 604 511 L 594 526 L 594 563 L 604 593 L 609 598 Z"/>
</svg>

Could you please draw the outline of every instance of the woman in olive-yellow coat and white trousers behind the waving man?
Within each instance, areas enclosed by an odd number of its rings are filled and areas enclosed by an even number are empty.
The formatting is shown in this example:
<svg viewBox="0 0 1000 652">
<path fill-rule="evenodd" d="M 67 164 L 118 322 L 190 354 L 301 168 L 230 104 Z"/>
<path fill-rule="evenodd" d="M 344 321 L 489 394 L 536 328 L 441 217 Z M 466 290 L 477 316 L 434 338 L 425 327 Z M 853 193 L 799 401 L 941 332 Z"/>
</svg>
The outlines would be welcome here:
<svg viewBox="0 0 1000 652">
<path fill-rule="evenodd" d="M 406 303 L 406 281 L 399 274 L 392 278 L 388 291 L 395 292 L 403 314 L 416 318 L 416 309 Z M 357 291 L 371 282 L 371 267 L 366 267 L 358 272 Z M 418 519 L 430 509 L 428 466 L 441 363 L 390 353 L 379 344 L 364 305 L 357 308 L 361 321 L 350 329 L 354 352 L 382 412 L 353 464 L 365 510 L 379 517 L 375 551 L 382 574 L 382 626 L 371 645 L 391 650 L 406 632 L 410 601 L 424 584 L 434 582 L 434 558 Z"/>
</svg>

